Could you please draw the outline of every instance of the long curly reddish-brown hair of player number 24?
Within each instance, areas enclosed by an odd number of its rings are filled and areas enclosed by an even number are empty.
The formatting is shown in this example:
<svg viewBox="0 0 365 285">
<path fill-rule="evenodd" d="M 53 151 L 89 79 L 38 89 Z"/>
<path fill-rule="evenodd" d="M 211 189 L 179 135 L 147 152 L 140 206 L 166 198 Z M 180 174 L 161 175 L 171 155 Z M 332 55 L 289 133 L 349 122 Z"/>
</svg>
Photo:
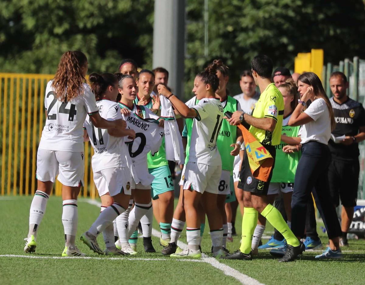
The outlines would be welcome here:
<svg viewBox="0 0 365 285">
<path fill-rule="evenodd" d="M 78 50 L 69 50 L 62 55 L 51 84 L 59 101 L 70 101 L 84 92 L 82 83 L 86 79 L 82 67 L 87 65 L 87 61 L 86 55 Z"/>
</svg>

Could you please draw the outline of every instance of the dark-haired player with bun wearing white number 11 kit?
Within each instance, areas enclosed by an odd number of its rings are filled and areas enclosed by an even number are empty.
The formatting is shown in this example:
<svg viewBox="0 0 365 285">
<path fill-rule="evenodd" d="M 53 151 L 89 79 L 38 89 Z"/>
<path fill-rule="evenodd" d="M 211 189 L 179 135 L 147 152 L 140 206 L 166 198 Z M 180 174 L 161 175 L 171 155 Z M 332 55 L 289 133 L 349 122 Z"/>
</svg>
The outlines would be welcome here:
<svg viewBox="0 0 365 285">
<path fill-rule="evenodd" d="M 122 119 L 120 108 L 115 102 L 118 95 L 118 79 L 114 74 L 90 74 L 91 89 L 95 94 L 100 116 L 109 121 Z M 91 120 L 85 120 L 84 128 L 94 148 L 92 170 L 94 182 L 101 198 L 101 212 L 81 240 L 99 254 L 123 255 L 114 244 L 113 220 L 126 211 L 131 195 L 131 172 L 127 167 L 127 147 L 124 136 L 135 138 L 135 131 L 102 130 Z M 84 135 L 85 136 L 85 135 Z M 102 251 L 97 243 L 97 235 L 103 232 L 106 249 Z"/>
</svg>

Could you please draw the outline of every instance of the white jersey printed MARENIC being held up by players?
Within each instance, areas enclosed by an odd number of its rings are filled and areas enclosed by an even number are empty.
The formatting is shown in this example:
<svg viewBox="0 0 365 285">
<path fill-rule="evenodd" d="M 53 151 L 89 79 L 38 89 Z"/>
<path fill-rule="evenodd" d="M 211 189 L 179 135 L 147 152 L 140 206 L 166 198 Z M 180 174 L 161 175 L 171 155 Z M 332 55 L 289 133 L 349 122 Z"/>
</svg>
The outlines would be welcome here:
<svg viewBox="0 0 365 285">
<path fill-rule="evenodd" d="M 164 128 L 158 126 L 159 116 L 152 113 L 148 108 L 133 104 L 130 109 L 122 103 L 121 108 L 131 111 L 129 116 L 122 115 L 127 122 L 127 127 L 136 132 L 135 139 L 127 143 L 128 153 L 132 162 L 132 176 L 136 184 L 141 182 L 144 186 L 151 185 L 154 176 L 148 172 L 147 153 L 157 153 L 160 149 Z"/>
</svg>

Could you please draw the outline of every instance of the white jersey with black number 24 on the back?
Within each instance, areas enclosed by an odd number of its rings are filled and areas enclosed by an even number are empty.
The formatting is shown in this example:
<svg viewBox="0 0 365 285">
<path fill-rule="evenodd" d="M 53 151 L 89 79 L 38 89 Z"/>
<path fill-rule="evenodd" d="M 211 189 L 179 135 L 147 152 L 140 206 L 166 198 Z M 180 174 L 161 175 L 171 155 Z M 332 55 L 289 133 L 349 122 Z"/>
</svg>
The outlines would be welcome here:
<svg viewBox="0 0 365 285">
<path fill-rule="evenodd" d="M 84 93 L 70 102 L 61 102 L 54 96 L 52 82 L 53 80 L 49 81 L 46 87 L 47 118 L 39 147 L 46 150 L 82 152 L 84 151 L 82 124 L 87 113 L 91 115 L 98 111 L 95 95 L 90 86 L 84 83 Z"/>
</svg>

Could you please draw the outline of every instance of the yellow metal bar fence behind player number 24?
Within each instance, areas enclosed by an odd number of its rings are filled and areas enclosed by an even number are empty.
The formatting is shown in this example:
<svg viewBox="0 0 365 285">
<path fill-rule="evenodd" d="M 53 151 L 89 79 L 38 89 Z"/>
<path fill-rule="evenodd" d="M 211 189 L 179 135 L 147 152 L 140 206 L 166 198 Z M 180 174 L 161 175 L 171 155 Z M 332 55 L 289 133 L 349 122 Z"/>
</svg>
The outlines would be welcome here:
<svg viewBox="0 0 365 285">
<path fill-rule="evenodd" d="M 51 74 L 0 73 L 1 195 L 34 195 L 37 148 L 45 124 L 44 97 Z M 85 177 L 80 196 L 95 198 L 91 156 L 85 143 Z M 51 194 L 61 196 L 57 181 Z"/>
</svg>

